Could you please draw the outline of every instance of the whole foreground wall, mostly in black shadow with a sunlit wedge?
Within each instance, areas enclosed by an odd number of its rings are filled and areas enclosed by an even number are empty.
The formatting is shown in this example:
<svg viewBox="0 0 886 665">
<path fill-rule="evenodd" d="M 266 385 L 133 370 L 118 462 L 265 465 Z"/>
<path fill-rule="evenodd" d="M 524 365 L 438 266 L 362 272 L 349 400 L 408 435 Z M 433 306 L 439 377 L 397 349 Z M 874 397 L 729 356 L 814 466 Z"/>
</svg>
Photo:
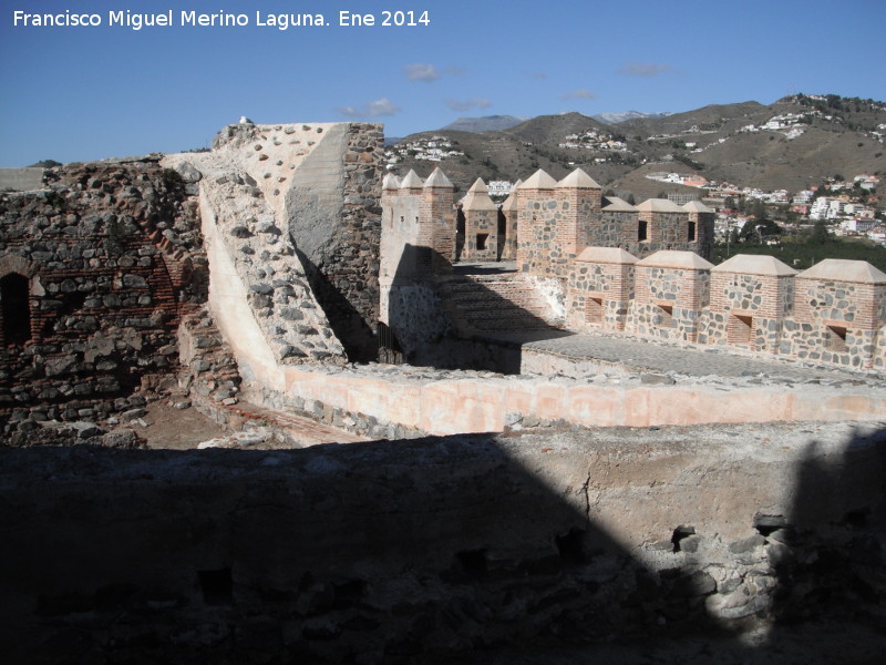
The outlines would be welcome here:
<svg viewBox="0 0 886 665">
<path fill-rule="evenodd" d="M 445 662 L 739 620 L 883 621 L 885 446 L 835 424 L 4 449 L 4 648 Z"/>
</svg>

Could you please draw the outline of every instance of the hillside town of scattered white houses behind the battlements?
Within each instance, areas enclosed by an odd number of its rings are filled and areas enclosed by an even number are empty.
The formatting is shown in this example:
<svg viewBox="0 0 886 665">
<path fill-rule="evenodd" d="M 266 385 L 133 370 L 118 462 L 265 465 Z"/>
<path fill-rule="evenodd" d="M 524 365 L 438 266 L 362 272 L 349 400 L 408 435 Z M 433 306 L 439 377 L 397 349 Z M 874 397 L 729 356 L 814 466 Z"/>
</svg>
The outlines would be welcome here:
<svg viewBox="0 0 886 665">
<path fill-rule="evenodd" d="M 849 108 L 856 113 L 861 111 L 874 115 L 858 120 L 858 116 L 847 115 Z M 727 175 L 729 180 L 712 180 L 707 167 L 711 165 L 709 160 L 717 164 L 717 158 L 720 158 L 717 155 L 722 150 L 748 151 L 746 146 L 756 145 L 753 141 L 759 142 L 761 136 L 769 136 L 766 143 L 774 142 L 771 145 L 800 145 L 810 141 L 810 132 L 821 133 L 822 126 L 832 127 L 828 132 L 854 132 L 856 139 L 848 144 L 852 150 L 861 150 L 862 141 L 873 140 L 876 145 L 874 150 L 878 151 L 879 144 L 886 137 L 886 124 L 882 123 L 882 115 L 877 115 L 883 109 L 882 102 L 872 100 L 797 94 L 786 98 L 786 104 L 779 109 L 773 108 L 769 114 L 743 113 L 735 114 L 732 119 L 725 115 L 719 119 L 710 114 L 699 115 L 682 127 L 674 124 L 663 125 L 652 133 L 646 133 L 636 125 L 629 125 L 632 129 L 616 125 L 609 131 L 599 124 L 580 129 L 580 120 L 573 119 L 569 121 L 571 125 L 564 125 L 570 127 L 568 131 L 547 134 L 545 139 L 542 139 L 544 133 L 519 136 L 517 151 L 521 154 L 537 155 L 535 161 L 529 162 L 536 166 L 539 165 L 537 160 L 543 156 L 568 168 L 583 164 L 598 165 L 601 168 L 643 168 L 643 177 L 662 185 L 657 197 L 668 198 L 677 205 L 698 201 L 715 211 L 718 242 L 741 237 L 775 245 L 781 242 L 782 236 L 812 229 L 817 225 L 832 236 L 866 239 L 886 246 L 886 206 L 883 196 L 878 194 L 882 192 L 883 173 L 874 166 L 856 165 L 856 168 L 866 168 L 866 172 L 851 172 L 852 174 L 846 173 L 845 176 L 835 172 L 832 176 L 824 177 L 820 173 L 815 176 L 817 182 L 795 181 L 796 184 L 802 184 L 802 188 L 796 191 L 783 188 L 785 184 L 776 185 L 772 190 L 746 186 L 741 182 L 741 176 L 735 175 Z M 444 135 L 442 130 L 409 137 L 385 147 L 385 167 L 399 173 L 403 167 L 408 170 L 410 162 L 414 164 L 415 161 L 441 165 L 450 161 L 468 165 L 475 161 L 468 150 L 470 153 L 475 153 L 476 150 L 471 149 L 464 139 L 462 141 L 465 145 Z M 744 147 L 721 149 L 723 144 Z M 483 154 L 485 165 L 495 166 L 490 173 L 490 195 L 501 204 L 511 193 L 512 181 L 519 174 L 515 173 L 511 164 L 494 164 L 490 153 Z M 880 155 L 880 152 L 873 153 L 875 160 Z M 834 168 L 842 172 L 839 166 Z M 640 203 L 650 195 L 646 193 L 640 196 L 639 192 L 631 191 L 629 184 L 620 185 L 618 171 L 609 173 L 609 184 L 604 185 L 608 195 L 618 196 L 630 204 L 635 204 L 635 201 Z M 755 178 L 754 184 L 760 183 L 761 178 Z M 753 226 L 746 227 L 751 222 Z M 765 227 L 761 226 L 761 222 L 765 223 Z"/>
</svg>

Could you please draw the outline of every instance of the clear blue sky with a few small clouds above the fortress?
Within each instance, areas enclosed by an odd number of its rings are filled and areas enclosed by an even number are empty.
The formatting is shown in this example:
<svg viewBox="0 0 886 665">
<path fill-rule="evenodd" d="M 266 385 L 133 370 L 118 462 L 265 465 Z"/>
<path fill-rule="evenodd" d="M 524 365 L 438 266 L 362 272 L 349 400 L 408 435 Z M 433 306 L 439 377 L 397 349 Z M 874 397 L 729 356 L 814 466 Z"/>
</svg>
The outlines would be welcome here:
<svg viewBox="0 0 886 665">
<path fill-rule="evenodd" d="M 886 2 L 821 0 L 155 0 L 4 2 L 0 166 L 205 147 L 224 125 L 382 122 L 389 136 L 460 116 L 680 112 L 791 93 L 886 101 Z M 13 25 L 13 11 L 100 27 Z M 175 25 L 109 27 L 110 10 Z M 429 25 L 341 27 L 340 10 Z M 182 27 L 182 11 L 246 14 Z M 322 13 L 321 28 L 256 25 Z"/>
</svg>

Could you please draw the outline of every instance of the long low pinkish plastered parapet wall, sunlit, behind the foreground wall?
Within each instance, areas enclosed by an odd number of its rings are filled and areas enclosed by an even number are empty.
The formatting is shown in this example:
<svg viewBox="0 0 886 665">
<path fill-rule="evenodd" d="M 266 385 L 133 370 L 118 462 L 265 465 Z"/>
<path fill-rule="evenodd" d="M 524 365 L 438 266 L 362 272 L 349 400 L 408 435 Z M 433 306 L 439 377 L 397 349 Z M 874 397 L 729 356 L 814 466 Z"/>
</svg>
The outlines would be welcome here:
<svg viewBox="0 0 886 665">
<path fill-rule="evenodd" d="M 240 364 L 267 371 L 245 383 L 253 401 L 287 408 L 318 400 L 379 422 L 433 434 L 501 432 L 523 420 L 577 427 L 652 427 L 787 420 L 878 421 L 886 389 L 806 383 L 690 380 L 645 385 L 638 375 L 601 382 L 566 377 L 490 376 L 370 366 L 327 369 Z M 624 370 L 619 374 L 624 374 Z"/>
</svg>

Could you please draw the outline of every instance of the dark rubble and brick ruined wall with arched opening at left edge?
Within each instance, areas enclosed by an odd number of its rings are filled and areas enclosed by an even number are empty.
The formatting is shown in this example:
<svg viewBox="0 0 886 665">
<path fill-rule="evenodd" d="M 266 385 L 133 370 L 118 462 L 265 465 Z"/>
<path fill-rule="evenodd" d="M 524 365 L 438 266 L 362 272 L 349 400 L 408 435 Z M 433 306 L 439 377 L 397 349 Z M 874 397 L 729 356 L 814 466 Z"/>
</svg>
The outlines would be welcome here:
<svg viewBox="0 0 886 665">
<path fill-rule="evenodd" d="M 0 195 L 6 436 L 125 410 L 144 376 L 174 371 L 179 319 L 208 283 L 195 193 L 144 157 L 69 164 L 41 191 Z"/>
</svg>

